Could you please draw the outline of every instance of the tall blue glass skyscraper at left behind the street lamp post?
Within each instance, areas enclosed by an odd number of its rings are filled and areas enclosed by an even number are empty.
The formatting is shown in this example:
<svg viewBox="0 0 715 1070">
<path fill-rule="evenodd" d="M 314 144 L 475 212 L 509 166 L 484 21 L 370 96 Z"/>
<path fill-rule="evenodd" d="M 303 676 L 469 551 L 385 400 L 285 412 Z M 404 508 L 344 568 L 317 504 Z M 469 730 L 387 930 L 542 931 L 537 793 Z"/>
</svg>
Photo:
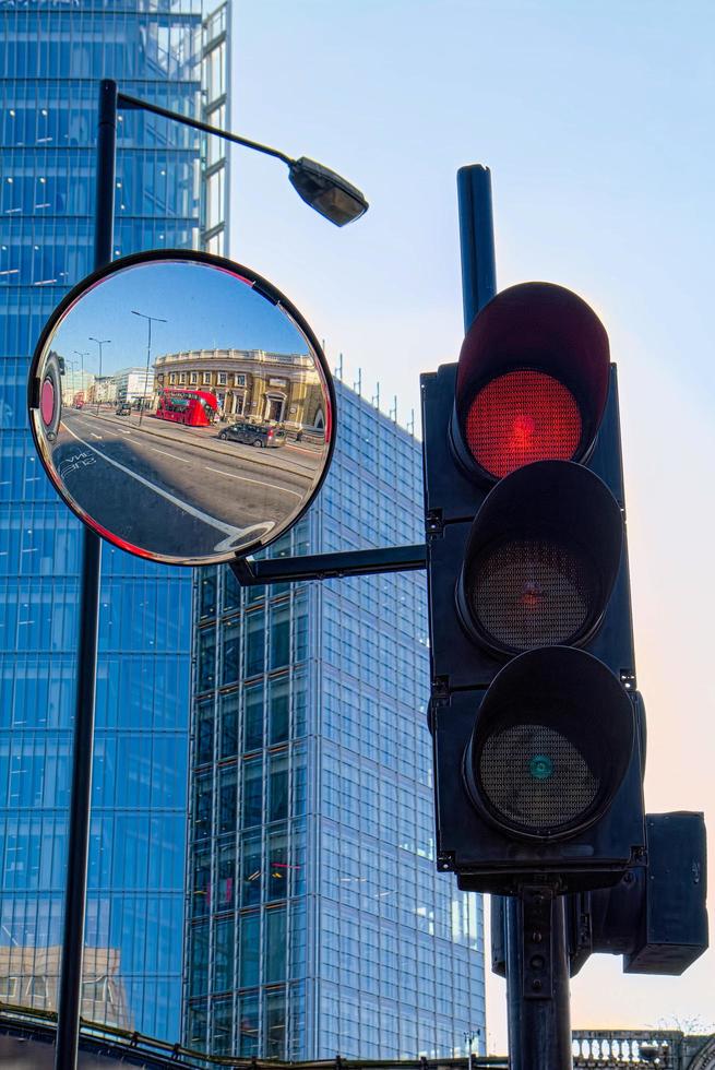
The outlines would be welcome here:
<svg viewBox="0 0 715 1070">
<path fill-rule="evenodd" d="M 226 121 L 226 11 L 204 14 L 201 0 L 0 10 L 0 999 L 37 1008 L 56 1006 L 81 528 L 35 456 L 27 368 L 49 312 L 93 269 L 98 80 Z M 222 251 L 224 173 L 221 150 L 206 152 L 195 131 L 122 112 L 114 255 L 202 242 Z M 68 371 L 85 385 L 96 344 L 74 357 Z M 82 1010 L 170 1039 L 180 1029 L 190 634 L 190 572 L 105 546 Z"/>
</svg>

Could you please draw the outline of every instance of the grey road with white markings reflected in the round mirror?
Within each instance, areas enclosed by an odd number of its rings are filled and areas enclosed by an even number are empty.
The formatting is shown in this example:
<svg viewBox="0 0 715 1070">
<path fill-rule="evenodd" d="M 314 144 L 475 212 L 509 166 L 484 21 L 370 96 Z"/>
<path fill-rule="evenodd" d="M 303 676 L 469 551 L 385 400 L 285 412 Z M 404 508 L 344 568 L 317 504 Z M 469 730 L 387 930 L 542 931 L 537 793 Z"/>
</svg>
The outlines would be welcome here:
<svg viewBox="0 0 715 1070">
<path fill-rule="evenodd" d="M 140 426 L 138 414 L 100 408 L 62 413 L 53 457 L 78 504 L 120 539 L 133 545 L 139 526 L 150 552 L 178 554 L 190 527 L 202 555 L 239 548 L 242 533 L 251 542 L 270 533 L 309 492 L 322 453 L 298 443 L 257 450 L 219 440 L 214 426 L 151 414 Z"/>
</svg>

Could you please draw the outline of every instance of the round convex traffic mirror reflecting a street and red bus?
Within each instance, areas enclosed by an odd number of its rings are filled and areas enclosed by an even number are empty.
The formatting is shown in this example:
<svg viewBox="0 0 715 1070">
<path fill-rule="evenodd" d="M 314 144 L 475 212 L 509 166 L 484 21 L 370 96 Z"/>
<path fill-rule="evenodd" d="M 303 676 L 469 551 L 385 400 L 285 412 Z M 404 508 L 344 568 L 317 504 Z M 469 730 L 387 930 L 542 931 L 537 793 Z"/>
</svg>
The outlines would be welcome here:
<svg viewBox="0 0 715 1070">
<path fill-rule="evenodd" d="M 29 421 L 68 506 L 170 564 L 260 549 L 318 492 L 335 440 L 325 358 L 254 272 L 200 252 L 115 261 L 48 321 Z"/>
</svg>

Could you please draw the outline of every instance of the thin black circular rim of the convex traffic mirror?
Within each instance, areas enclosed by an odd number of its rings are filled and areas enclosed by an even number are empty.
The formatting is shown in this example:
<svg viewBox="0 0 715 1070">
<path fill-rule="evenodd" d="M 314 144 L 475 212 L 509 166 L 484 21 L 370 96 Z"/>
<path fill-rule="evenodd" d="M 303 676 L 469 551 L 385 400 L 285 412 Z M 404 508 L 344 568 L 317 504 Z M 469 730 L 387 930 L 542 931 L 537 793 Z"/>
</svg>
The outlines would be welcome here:
<svg viewBox="0 0 715 1070">
<path fill-rule="evenodd" d="M 151 550 L 144 550 L 141 547 L 134 546 L 133 544 L 128 545 L 122 538 L 112 534 L 111 532 L 104 528 L 100 524 L 93 520 L 88 513 L 85 513 L 81 507 L 75 502 L 68 501 L 63 486 L 57 477 L 51 464 L 48 461 L 48 455 L 46 453 L 46 445 L 40 441 L 39 436 L 35 428 L 35 413 L 39 409 L 40 401 L 40 379 L 39 379 L 39 362 L 43 357 L 45 347 L 51 337 L 52 332 L 60 322 L 60 320 L 65 316 L 65 313 L 75 305 L 88 290 L 93 289 L 98 283 L 108 278 L 110 275 L 116 274 L 119 271 L 123 271 L 127 268 L 133 268 L 136 265 L 151 264 L 156 262 L 169 262 L 169 261 L 184 261 L 187 263 L 199 263 L 205 264 L 208 268 L 216 268 L 219 271 L 227 272 L 231 275 L 238 275 L 240 278 L 245 280 L 247 284 L 250 284 L 257 293 L 263 297 L 265 300 L 270 301 L 274 306 L 286 312 L 288 317 L 294 321 L 298 330 L 305 335 L 309 345 L 312 348 L 314 357 L 318 359 L 318 364 L 323 373 L 325 381 L 325 387 L 327 390 L 327 401 L 330 403 L 330 440 L 327 442 L 327 454 L 325 456 L 325 463 L 318 479 L 318 483 L 313 487 L 311 494 L 306 499 L 306 501 L 300 507 L 300 510 L 296 513 L 295 518 L 290 524 L 283 527 L 277 535 L 273 538 L 269 538 L 264 543 L 249 545 L 245 550 L 231 550 L 224 557 L 217 557 L 208 561 L 196 561 L 192 559 L 189 555 L 186 556 L 183 560 L 171 560 L 167 561 L 160 555 L 153 554 Z M 253 271 L 251 268 L 247 268 L 243 264 L 238 264 L 233 260 L 227 260 L 225 257 L 218 257 L 215 253 L 204 252 L 203 250 L 191 250 L 191 249 L 152 249 L 145 252 L 131 253 L 128 257 L 120 257 L 118 260 L 112 260 L 110 263 L 106 264 L 104 268 L 99 268 L 97 271 L 92 272 L 92 274 L 86 275 L 81 282 L 79 282 L 72 289 L 64 295 L 59 305 L 55 307 L 49 316 L 49 319 L 45 323 L 39 338 L 35 345 L 35 350 L 33 353 L 32 360 L 29 362 L 29 370 L 27 374 L 27 415 L 29 423 L 29 430 L 35 444 L 35 450 L 39 456 L 43 467 L 48 475 L 48 478 L 58 495 L 78 516 L 83 524 L 85 524 L 91 531 L 100 535 L 112 546 L 119 549 L 126 550 L 128 554 L 132 554 L 134 557 L 144 558 L 145 560 L 156 561 L 159 564 L 166 564 L 168 567 L 177 566 L 180 568 L 205 568 L 212 564 L 225 564 L 229 561 L 235 561 L 248 557 L 249 555 L 257 554 L 264 550 L 272 543 L 276 542 L 287 532 L 289 532 L 298 521 L 303 516 L 306 511 L 315 500 L 320 494 L 327 472 L 330 471 L 331 463 L 333 461 L 333 452 L 335 450 L 335 440 L 337 436 L 337 399 L 335 394 L 335 387 L 333 384 L 333 376 L 327 366 L 327 360 L 325 354 L 322 350 L 315 334 L 313 333 L 310 324 L 303 318 L 303 316 L 298 311 L 296 306 L 290 301 L 285 294 L 283 294 L 277 286 L 269 282 L 258 272 Z"/>
</svg>

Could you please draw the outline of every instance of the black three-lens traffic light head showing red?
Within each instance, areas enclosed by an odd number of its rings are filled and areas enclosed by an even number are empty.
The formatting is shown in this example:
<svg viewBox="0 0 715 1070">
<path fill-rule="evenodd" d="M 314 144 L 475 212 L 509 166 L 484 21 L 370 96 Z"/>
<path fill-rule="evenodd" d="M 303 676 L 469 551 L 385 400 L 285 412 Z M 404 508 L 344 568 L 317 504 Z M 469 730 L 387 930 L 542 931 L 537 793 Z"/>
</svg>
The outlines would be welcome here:
<svg viewBox="0 0 715 1070">
<path fill-rule="evenodd" d="M 513 286 L 421 388 L 438 866 L 615 883 L 645 858 L 645 729 L 606 331 Z"/>
</svg>

